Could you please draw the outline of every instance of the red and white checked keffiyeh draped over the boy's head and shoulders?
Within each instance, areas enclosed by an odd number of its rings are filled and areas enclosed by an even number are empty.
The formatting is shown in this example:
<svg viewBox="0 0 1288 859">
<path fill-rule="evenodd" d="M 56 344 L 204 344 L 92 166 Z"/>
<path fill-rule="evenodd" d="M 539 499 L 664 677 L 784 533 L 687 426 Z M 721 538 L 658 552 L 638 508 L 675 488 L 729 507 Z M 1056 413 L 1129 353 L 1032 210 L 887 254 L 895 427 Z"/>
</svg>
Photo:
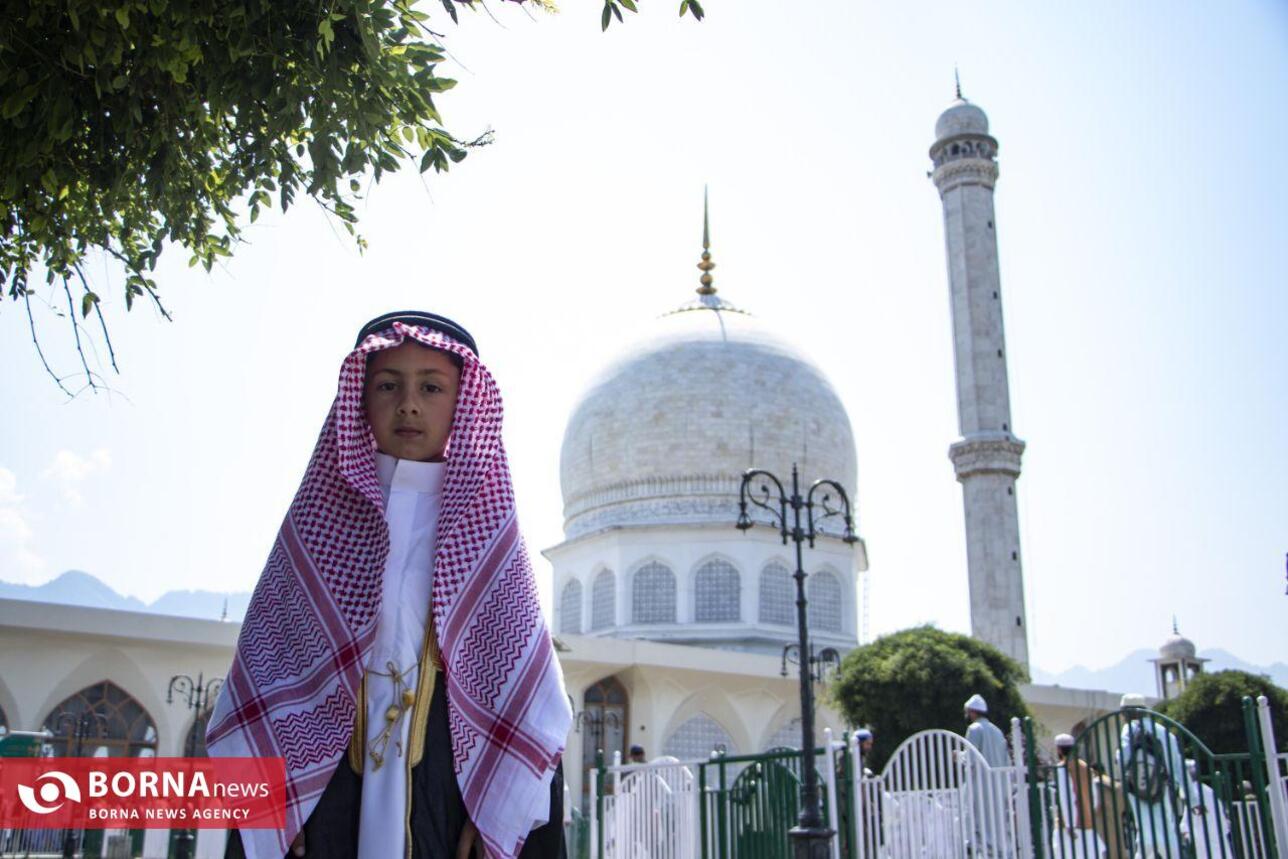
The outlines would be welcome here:
<svg viewBox="0 0 1288 859">
<path fill-rule="evenodd" d="M 572 713 L 514 511 L 501 395 L 465 345 L 394 322 L 340 367 L 335 403 L 251 598 L 206 732 L 211 756 L 286 759 L 286 827 L 245 829 L 279 859 L 348 747 L 380 613 L 389 529 L 362 392 L 367 354 L 412 337 L 464 361 L 438 523 L 431 609 L 452 760 L 488 856 L 550 813 Z M 429 607 L 426 607 L 429 608 Z"/>
</svg>

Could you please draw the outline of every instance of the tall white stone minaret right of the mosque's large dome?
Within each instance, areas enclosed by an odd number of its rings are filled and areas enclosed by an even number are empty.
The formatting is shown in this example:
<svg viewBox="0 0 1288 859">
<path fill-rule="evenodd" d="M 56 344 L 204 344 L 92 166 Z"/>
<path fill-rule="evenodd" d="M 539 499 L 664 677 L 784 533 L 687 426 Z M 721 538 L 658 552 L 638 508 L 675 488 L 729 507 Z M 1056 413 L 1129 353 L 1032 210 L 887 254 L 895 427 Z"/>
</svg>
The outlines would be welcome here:
<svg viewBox="0 0 1288 859">
<path fill-rule="evenodd" d="M 962 98 L 935 122 L 931 174 L 944 203 L 961 439 L 948 458 L 962 484 L 971 634 L 1028 667 L 1015 480 L 1024 442 L 1011 433 L 1002 294 L 993 222 L 997 140 Z"/>
</svg>

